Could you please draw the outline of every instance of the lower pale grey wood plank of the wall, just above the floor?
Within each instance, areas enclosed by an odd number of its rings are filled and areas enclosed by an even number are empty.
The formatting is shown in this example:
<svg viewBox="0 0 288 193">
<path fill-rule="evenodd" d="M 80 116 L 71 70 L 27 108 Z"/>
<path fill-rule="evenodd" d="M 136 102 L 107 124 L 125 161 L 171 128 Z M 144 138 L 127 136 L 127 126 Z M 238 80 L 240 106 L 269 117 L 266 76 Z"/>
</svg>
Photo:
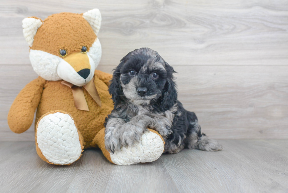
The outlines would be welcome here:
<svg viewBox="0 0 288 193">
<path fill-rule="evenodd" d="M 97 69 L 111 73 L 113 65 Z M 9 108 L 37 77 L 31 65 L 1 65 L 0 141 L 34 141 L 34 125 L 10 131 Z M 175 65 L 179 97 L 211 138 L 288 138 L 288 66 Z M 9 81 L 8 81 L 9 80 Z"/>
</svg>

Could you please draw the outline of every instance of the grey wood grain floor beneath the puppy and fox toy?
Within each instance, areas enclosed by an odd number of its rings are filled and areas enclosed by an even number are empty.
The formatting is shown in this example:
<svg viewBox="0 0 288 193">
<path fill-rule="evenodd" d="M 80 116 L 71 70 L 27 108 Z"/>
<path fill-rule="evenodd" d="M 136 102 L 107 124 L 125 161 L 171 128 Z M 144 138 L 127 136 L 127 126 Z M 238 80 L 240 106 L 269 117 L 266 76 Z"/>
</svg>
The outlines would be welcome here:
<svg viewBox="0 0 288 193">
<path fill-rule="evenodd" d="M 117 166 L 99 149 L 70 166 L 42 161 L 33 142 L 0 142 L 0 189 L 8 192 L 288 191 L 287 140 L 220 140 L 224 149 L 185 149 L 157 161 Z M 29 169 L 28 169 L 29 168 Z"/>
</svg>

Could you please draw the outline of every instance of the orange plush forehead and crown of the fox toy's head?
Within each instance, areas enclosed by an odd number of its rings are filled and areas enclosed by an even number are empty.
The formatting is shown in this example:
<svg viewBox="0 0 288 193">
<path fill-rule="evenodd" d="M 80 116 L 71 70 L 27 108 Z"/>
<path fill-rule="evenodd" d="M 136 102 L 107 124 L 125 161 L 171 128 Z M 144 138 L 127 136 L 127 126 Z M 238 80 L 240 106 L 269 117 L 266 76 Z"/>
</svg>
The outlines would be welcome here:
<svg viewBox="0 0 288 193">
<path fill-rule="evenodd" d="M 65 29 L 65 30 L 62 30 Z M 59 50 L 68 54 L 80 52 L 82 46 L 89 48 L 97 38 L 82 14 L 59 13 L 48 16 L 34 36 L 32 50 L 42 50 L 59 56 Z"/>
</svg>

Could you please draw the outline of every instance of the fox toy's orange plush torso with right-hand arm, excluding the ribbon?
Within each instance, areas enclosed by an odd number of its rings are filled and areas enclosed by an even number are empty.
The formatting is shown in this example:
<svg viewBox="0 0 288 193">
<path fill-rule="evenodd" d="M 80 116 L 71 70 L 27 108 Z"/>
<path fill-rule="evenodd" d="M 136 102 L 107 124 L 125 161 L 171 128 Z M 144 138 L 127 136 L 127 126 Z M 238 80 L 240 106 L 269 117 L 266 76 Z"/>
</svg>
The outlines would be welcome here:
<svg viewBox="0 0 288 193">
<path fill-rule="evenodd" d="M 110 77 L 110 78 L 108 78 Z M 84 95 L 89 107 L 89 111 L 78 110 L 74 105 L 71 88 L 62 85 L 59 81 L 46 81 L 43 85 L 42 98 L 36 113 L 36 123 L 45 113 L 53 110 L 62 110 L 73 117 L 77 129 L 84 138 L 84 147 L 91 147 L 91 141 L 98 131 L 103 128 L 105 117 L 111 113 L 113 103 L 108 93 L 108 85 L 103 80 L 111 79 L 112 75 L 100 70 L 95 70 L 94 83 L 101 98 L 101 107 L 93 100 L 84 89 Z M 38 77 L 41 79 L 41 77 Z M 57 100 L 55 100 L 57 99 Z"/>
</svg>

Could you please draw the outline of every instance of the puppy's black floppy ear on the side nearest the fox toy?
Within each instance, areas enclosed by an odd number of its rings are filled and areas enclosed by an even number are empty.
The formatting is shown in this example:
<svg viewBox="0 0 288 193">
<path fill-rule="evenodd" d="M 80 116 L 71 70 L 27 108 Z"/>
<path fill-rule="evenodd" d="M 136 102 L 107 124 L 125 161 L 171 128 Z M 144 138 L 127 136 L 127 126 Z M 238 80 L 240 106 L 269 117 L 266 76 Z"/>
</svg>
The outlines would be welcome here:
<svg viewBox="0 0 288 193">
<path fill-rule="evenodd" d="M 114 69 L 112 80 L 110 80 L 109 93 L 112 96 L 114 106 L 119 103 L 121 95 L 123 95 L 123 90 L 120 83 L 120 69 L 123 63 L 124 61 L 121 60 L 120 64 Z"/>
</svg>

